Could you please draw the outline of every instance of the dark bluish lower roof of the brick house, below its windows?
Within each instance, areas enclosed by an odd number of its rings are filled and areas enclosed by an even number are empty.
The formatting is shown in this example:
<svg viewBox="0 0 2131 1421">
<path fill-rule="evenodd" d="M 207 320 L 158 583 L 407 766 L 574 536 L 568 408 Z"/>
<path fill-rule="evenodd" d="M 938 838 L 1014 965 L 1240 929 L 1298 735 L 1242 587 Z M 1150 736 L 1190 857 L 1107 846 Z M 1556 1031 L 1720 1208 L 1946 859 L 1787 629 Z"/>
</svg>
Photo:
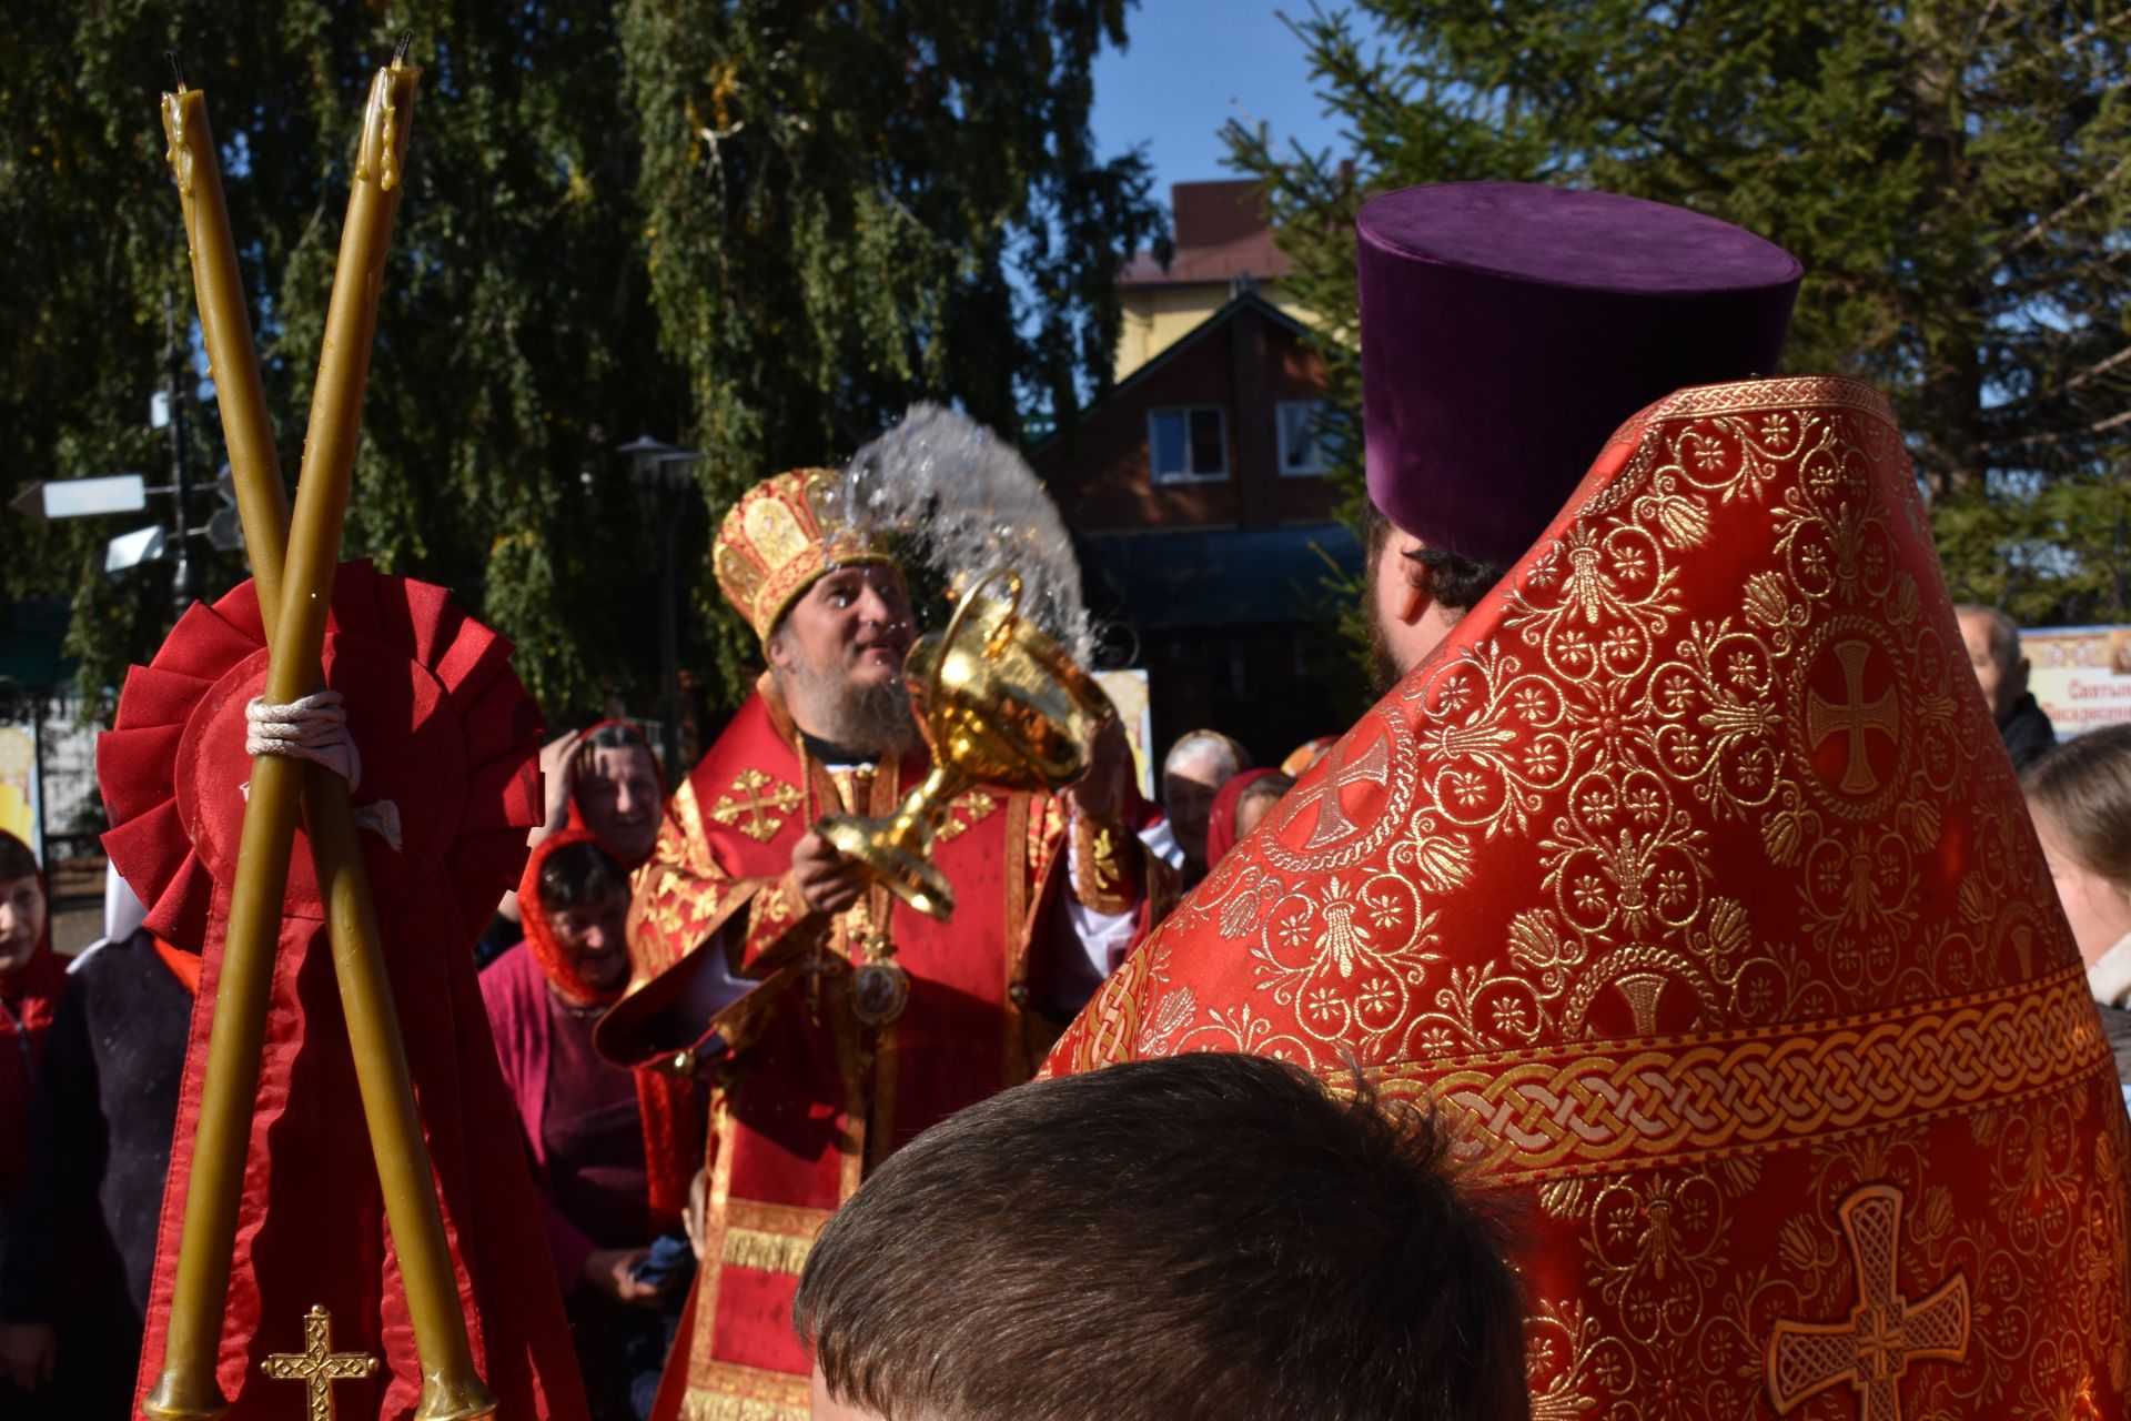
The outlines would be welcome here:
<svg viewBox="0 0 2131 1421">
<path fill-rule="evenodd" d="M 1345 524 L 1115 533 L 1085 548 L 1089 577 L 1119 592 L 1140 631 L 1296 622 L 1362 571 Z"/>
</svg>

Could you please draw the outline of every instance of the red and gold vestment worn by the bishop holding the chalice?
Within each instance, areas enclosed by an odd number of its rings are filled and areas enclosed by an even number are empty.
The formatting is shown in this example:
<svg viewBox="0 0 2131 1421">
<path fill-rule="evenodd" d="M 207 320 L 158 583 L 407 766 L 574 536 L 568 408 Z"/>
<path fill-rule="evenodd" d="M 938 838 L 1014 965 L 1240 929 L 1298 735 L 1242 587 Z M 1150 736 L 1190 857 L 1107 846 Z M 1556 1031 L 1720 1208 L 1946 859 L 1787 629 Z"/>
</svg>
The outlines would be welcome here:
<svg viewBox="0 0 2131 1421">
<path fill-rule="evenodd" d="M 878 886 L 835 918 L 810 914 L 791 886 L 793 846 L 816 820 L 884 816 L 927 767 L 921 750 L 878 773 L 831 773 L 765 677 L 673 795 L 639 869 L 637 986 L 601 1025 L 603 1050 L 641 1059 L 703 1035 L 703 1016 L 671 1003 L 697 944 L 690 963 L 720 952 L 761 980 L 716 1018 L 731 1050 L 714 1067 L 707 1251 L 654 1417 L 806 1417 L 810 1361 L 791 1304 L 814 1236 L 867 1167 L 1027 1080 L 1057 1035 L 1034 1010 L 1053 967 L 1046 925 L 1070 893 L 1057 797 L 974 788 L 953 803 L 933 854 L 955 886 L 950 922 Z M 852 965 L 882 957 L 882 940 L 910 995 L 874 1029 L 852 1012 Z"/>
</svg>

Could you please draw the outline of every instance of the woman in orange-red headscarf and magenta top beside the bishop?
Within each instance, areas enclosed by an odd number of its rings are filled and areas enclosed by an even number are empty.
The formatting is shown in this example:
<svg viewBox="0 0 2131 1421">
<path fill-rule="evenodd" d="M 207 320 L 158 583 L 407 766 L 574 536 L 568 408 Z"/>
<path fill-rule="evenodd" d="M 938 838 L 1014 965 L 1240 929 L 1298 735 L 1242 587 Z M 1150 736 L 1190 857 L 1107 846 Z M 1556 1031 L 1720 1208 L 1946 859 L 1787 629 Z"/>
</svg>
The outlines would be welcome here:
<svg viewBox="0 0 2131 1421">
<path fill-rule="evenodd" d="M 629 984 L 629 873 L 588 829 L 548 835 L 518 886 L 526 937 L 482 974 L 503 1080 L 533 1157 L 595 1417 L 629 1417 L 656 1385 L 663 1312 L 686 1289 L 648 1268 L 686 1255 L 678 1234 L 703 1106 L 693 1082 L 627 1069 L 592 1050 L 592 1027 Z"/>
</svg>

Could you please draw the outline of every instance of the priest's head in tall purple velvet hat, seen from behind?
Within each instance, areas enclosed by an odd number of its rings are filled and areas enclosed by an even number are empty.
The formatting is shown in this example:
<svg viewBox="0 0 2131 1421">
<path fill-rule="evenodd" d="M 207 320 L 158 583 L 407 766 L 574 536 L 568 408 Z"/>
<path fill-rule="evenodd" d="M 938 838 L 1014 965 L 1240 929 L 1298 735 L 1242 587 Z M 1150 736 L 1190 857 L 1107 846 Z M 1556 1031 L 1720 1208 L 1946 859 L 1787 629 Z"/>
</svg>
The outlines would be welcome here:
<svg viewBox="0 0 2131 1421">
<path fill-rule="evenodd" d="M 1389 690 L 1524 556 L 1628 415 L 1775 373 L 1799 258 L 1611 192 L 1438 183 L 1355 222 L 1368 631 Z"/>
</svg>

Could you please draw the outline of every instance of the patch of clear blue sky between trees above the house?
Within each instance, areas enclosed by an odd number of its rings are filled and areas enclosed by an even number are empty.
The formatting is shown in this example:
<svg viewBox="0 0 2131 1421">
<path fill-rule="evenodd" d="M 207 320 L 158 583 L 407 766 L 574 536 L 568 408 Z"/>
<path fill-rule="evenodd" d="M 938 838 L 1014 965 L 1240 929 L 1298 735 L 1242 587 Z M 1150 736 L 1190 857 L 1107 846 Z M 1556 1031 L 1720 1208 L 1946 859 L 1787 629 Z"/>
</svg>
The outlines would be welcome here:
<svg viewBox="0 0 2131 1421">
<path fill-rule="evenodd" d="M 1221 162 L 1219 132 L 1232 117 L 1308 149 L 1345 147 L 1281 11 L 1308 15 L 1308 0 L 1140 0 L 1125 15 L 1127 49 L 1095 62 L 1095 151 L 1144 143 L 1166 202 L 1172 183 L 1238 177 Z"/>
</svg>

